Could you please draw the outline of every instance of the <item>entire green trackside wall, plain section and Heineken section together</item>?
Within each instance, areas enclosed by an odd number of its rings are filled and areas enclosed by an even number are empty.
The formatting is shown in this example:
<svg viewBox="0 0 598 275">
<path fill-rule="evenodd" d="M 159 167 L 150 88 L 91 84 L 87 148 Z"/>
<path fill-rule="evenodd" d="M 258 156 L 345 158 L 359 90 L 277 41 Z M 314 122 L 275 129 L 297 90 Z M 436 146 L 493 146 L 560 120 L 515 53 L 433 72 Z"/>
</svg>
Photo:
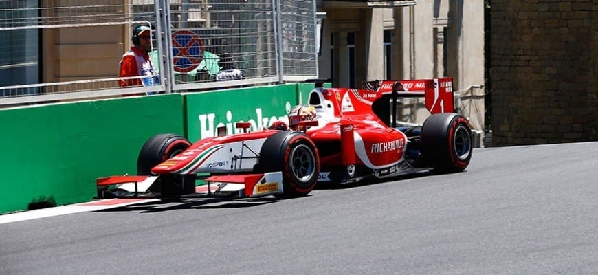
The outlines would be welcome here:
<svg viewBox="0 0 598 275">
<path fill-rule="evenodd" d="M 275 85 L 0 109 L 0 214 L 91 201 L 96 178 L 135 175 L 137 154 L 158 133 L 192 142 L 234 122 L 286 119 L 299 91 Z"/>
</svg>

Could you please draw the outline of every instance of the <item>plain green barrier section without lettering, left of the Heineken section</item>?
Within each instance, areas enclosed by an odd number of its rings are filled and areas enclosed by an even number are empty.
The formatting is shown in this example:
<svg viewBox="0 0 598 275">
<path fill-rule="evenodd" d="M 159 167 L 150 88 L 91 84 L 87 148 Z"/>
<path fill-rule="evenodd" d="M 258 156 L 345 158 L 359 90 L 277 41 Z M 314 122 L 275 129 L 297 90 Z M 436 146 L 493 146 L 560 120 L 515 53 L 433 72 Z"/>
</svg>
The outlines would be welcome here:
<svg viewBox="0 0 598 275">
<path fill-rule="evenodd" d="M 184 134 L 181 94 L 0 110 L 0 213 L 90 201 L 97 177 L 135 174 L 157 133 Z"/>
</svg>

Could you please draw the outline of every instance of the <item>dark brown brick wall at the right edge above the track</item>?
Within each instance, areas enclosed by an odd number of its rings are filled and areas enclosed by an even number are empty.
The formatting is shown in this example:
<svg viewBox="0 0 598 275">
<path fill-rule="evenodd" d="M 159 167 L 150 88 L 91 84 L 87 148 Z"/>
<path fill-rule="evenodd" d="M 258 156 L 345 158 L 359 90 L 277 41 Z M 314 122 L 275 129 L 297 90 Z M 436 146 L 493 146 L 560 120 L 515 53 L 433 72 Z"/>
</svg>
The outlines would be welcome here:
<svg viewBox="0 0 598 275">
<path fill-rule="evenodd" d="M 598 0 L 493 0 L 494 146 L 598 140 Z"/>
</svg>

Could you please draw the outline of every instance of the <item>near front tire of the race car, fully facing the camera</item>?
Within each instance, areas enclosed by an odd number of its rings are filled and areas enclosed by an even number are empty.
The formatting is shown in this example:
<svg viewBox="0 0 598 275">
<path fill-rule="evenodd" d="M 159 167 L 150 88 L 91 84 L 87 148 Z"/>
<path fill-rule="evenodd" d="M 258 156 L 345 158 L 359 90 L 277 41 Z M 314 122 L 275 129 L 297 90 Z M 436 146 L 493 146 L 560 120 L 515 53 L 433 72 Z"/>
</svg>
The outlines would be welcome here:
<svg viewBox="0 0 598 275">
<path fill-rule="evenodd" d="M 315 187 L 320 174 L 320 156 L 304 133 L 282 131 L 265 140 L 256 170 L 283 173 L 283 195 L 302 197 Z"/>
</svg>

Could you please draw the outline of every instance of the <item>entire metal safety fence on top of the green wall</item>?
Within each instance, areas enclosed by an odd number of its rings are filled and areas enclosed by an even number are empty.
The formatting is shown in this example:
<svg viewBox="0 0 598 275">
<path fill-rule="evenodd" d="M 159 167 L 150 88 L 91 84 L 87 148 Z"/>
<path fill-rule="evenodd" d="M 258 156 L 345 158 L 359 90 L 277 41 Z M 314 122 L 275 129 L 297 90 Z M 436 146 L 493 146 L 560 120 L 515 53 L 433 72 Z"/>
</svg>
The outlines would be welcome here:
<svg viewBox="0 0 598 275">
<path fill-rule="evenodd" d="M 119 77 L 138 25 L 156 74 Z M 0 107 L 299 82 L 315 36 L 313 0 L 0 1 Z"/>
</svg>

